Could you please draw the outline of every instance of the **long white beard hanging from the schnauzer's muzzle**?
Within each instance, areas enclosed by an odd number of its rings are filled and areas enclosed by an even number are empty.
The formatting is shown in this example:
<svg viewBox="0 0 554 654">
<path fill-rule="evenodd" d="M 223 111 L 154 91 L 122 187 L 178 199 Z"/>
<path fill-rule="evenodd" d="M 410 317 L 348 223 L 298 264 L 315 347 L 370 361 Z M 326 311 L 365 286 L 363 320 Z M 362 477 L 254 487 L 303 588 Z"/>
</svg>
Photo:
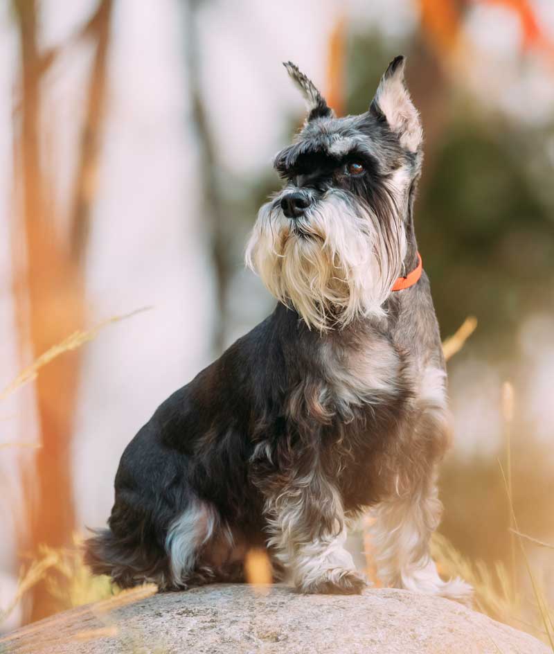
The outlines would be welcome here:
<svg viewBox="0 0 554 654">
<path fill-rule="evenodd" d="M 298 222 L 302 236 L 280 207 L 268 202 L 249 239 L 247 265 L 310 328 L 324 331 L 357 317 L 382 316 L 406 255 L 402 212 L 391 202 L 386 213 L 383 229 L 368 206 L 328 191 Z"/>
</svg>

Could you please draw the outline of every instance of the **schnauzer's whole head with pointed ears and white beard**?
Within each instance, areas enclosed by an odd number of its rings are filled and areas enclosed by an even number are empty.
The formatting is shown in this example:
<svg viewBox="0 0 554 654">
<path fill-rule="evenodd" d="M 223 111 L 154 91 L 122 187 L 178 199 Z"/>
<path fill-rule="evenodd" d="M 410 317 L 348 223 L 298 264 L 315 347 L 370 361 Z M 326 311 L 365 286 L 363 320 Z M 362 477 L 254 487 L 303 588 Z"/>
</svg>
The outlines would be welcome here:
<svg viewBox="0 0 554 654">
<path fill-rule="evenodd" d="M 274 166 L 283 189 L 260 209 L 247 263 L 308 326 L 382 315 L 402 272 L 422 130 L 404 85 L 404 58 L 384 73 L 368 111 L 336 118 L 293 64 L 308 116 Z"/>
</svg>

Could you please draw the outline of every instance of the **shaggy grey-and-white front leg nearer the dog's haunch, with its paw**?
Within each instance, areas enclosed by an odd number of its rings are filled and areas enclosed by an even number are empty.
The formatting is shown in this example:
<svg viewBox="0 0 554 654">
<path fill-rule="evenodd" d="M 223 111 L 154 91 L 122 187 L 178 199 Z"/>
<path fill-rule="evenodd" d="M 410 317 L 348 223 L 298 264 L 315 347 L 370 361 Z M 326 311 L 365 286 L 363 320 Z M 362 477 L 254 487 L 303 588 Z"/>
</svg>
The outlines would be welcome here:
<svg viewBox="0 0 554 654">
<path fill-rule="evenodd" d="M 346 527 L 337 488 L 317 467 L 265 484 L 269 546 L 296 588 L 355 594 L 366 586 L 344 549 Z"/>
</svg>

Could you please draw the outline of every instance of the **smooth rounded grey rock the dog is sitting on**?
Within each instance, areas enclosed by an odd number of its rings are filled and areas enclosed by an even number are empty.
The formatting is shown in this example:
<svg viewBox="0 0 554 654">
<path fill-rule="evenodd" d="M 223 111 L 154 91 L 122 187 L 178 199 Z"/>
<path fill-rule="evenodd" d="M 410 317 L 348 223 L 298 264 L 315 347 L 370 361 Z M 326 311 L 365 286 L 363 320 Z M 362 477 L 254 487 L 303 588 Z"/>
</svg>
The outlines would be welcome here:
<svg viewBox="0 0 554 654">
<path fill-rule="evenodd" d="M 55 615 L 0 638 L 10 654 L 546 654 L 537 639 L 452 601 L 404 590 L 300 595 L 224 584 L 101 612 Z"/>
</svg>

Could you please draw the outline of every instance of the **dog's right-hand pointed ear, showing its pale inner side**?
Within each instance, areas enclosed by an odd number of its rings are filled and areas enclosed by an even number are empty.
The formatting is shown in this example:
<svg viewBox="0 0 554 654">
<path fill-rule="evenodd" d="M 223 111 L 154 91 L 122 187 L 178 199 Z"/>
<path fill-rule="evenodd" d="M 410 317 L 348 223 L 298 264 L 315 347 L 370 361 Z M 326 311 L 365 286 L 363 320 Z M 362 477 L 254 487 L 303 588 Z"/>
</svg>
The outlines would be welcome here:
<svg viewBox="0 0 554 654">
<path fill-rule="evenodd" d="M 402 148 L 415 152 L 423 141 L 423 130 L 420 114 L 413 106 L 404 81 L 405 64 L 402 55 L 388 64 L 369 111 L 377 118 L 386 120 L 391 130 L 398 135 Z"/>
</svg>

